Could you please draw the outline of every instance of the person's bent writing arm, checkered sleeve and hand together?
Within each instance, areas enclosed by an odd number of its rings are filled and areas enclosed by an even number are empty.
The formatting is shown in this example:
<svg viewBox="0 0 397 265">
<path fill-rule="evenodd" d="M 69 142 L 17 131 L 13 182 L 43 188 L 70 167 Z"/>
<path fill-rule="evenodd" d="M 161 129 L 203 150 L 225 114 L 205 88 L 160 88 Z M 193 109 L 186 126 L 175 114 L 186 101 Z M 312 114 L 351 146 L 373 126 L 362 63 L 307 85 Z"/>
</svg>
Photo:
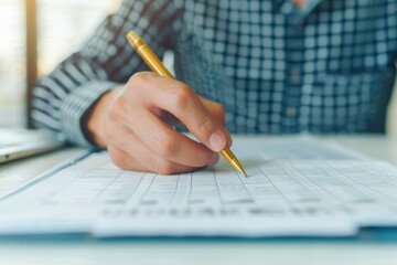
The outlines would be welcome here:
<svg viewBox="0 0 397 265">
<path fill-rule="evenodd" d="M 106 147 L 128 170 L 169 174 L 217 162 L 232 142 L 224 108 L 186 84 L 137 73 L 147 66 L 126 41 L 128 31 L 138 31 L 160 56 L 171 46 L 175 13 L 159 2 L 125 1 L 81 52 L 41 80 L 32 114 L 37 126 L 74 144 Z M 173 130 L 179 120 L 200 142 Z"/>
</svg>

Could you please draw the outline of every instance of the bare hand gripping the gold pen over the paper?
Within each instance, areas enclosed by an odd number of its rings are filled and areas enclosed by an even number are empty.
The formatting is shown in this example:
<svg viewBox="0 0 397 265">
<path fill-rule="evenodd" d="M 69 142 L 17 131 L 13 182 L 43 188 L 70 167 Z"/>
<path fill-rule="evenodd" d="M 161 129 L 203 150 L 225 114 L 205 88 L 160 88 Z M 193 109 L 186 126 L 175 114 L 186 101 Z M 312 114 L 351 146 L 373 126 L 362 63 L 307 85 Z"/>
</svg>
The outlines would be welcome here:
<svg viewBox="0 0 397 265">
<path fill-rule="evenodd" d="M 180 121 L 198 141 L 172 128 Z M 104 95 L 86 123 L 94 144 L 126 170 L 187 172 L 216 163 L 217 152 L 232 145 L 222 105 L 154 73 L 138 73 Z"/>
</svg>

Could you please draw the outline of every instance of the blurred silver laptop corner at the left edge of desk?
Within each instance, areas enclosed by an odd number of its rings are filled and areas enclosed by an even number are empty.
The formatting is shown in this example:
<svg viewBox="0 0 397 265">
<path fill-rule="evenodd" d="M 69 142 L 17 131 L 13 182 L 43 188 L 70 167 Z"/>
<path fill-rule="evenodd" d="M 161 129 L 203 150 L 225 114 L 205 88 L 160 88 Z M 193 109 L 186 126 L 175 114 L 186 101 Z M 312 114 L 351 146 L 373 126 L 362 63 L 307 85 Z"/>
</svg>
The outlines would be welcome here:
<svg viewBox="0 0 397 265">
<path fill-rule="evenodd" d="M 44 130 L 0 128 L 0 163 L 52 151 L 64 141 Z"/>
</svg>

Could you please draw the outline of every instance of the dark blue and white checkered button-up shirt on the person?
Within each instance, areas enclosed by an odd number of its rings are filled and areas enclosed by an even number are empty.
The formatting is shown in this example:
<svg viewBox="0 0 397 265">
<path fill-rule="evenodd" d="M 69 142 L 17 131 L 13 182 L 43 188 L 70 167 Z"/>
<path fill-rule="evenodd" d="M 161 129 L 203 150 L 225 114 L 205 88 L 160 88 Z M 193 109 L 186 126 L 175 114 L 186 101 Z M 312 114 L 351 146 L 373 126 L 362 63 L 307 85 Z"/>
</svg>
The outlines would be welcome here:
<svg viewBox="0 0 397 265">
<path fill-rule="evenodd" d="M 148 67 L 137 31 L 176 77 L 223 104 L 232 132 L 384 132 L 396 76 L 396 0 L 126 0 L 33 89 L 36 126 L 89 146 L 107 91 Z"/>
</svg>

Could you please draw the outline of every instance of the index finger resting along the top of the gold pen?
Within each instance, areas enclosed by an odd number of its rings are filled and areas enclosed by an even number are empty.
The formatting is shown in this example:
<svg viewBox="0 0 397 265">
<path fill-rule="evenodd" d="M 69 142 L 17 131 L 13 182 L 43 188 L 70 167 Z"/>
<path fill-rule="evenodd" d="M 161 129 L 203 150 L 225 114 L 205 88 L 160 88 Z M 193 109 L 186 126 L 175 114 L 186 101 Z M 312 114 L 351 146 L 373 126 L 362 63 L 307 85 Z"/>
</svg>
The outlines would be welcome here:
<svg viewBox="0 0 397 265">
<path fill-rule="evenodd" d="M 150 73 L 135 75 L 131 80 L 137 87 L 144 87 L 140 97 L 142 104 L 153 112 L 160 108 L 174 115 L 213 151 L 221 151 L 229 144 L 224 121 L 217 120 L 185 84 Z"/>
</svg>

